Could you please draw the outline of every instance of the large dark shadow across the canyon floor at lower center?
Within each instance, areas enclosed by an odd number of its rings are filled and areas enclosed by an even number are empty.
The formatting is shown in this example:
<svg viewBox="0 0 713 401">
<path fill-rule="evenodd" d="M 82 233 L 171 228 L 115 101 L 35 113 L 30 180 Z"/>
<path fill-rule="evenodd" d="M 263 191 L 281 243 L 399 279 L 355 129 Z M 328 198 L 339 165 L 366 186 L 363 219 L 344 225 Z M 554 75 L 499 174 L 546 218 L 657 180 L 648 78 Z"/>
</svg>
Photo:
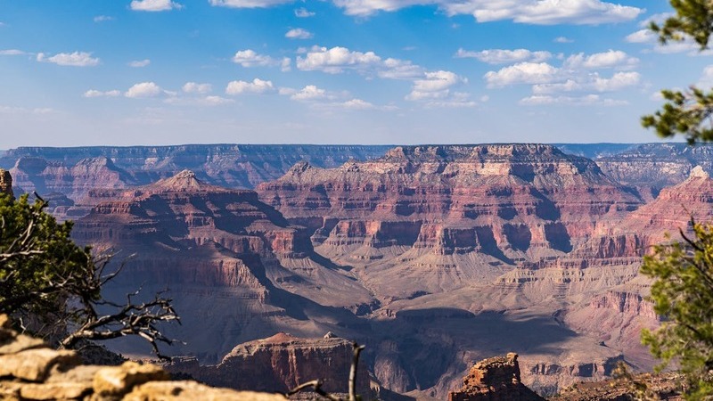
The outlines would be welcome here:
<svg viewBox="0 0 713 401">
<path fill-rule="evenodd" d="M 382 341 L 397 344 L 393 363 L 408 374 L 412 383 L 408 391 L 437 385 L 449 368 L 462 363 L 463 351 L 476 351 L 482 357 L 507 352 L 521 356 L 554 354 L 560 351 L 559 344 L 577 335 L 549 315 L 476 315 L 463 309 L 436 307 L 405 310 L 392 320 L 372 322 L 370 341 L 373 348 Z M 476 361 L 466 364 L 469 362 Z"/>
</svg>

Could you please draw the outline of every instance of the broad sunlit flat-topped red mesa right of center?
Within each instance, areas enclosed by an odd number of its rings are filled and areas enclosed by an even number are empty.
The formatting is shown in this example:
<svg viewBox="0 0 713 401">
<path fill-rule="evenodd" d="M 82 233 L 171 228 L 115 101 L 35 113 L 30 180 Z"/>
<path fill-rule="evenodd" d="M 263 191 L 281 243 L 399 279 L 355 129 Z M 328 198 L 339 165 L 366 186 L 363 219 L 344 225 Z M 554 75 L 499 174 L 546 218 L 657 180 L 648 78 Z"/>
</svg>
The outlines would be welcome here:
<svg viewBox="0 0 713 401">
<path fill-rule="evenodd" d="M 591 160 L 535 144 L 397 147 L 332 169 L 300 163 L 257 191 L 306 225 L 320 253 L 364 266 L 391 298 L 561 257 L 642 204 Z"/>
</svg>

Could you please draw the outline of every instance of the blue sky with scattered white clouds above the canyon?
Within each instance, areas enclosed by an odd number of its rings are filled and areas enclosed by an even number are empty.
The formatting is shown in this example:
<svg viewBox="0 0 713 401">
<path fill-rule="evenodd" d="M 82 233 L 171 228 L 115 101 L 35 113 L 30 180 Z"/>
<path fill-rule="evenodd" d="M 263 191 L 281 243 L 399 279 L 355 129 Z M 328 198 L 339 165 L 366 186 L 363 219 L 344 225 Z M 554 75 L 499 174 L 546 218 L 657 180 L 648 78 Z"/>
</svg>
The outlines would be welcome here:
<svg viewBox="0 0 713 401">
<path fill-rule="evenodd" d="M 668 1 L 0 0 L 0 149 L 638 143 L 713 59 Z"/>
</svg>

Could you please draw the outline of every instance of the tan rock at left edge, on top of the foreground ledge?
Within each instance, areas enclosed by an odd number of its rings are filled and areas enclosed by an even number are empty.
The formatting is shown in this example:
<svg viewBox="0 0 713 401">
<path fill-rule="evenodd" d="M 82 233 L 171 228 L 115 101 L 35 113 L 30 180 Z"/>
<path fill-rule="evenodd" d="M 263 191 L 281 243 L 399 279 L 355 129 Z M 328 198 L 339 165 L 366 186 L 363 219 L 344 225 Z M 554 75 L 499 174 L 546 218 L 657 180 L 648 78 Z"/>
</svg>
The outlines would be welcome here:
<svg viewBox="0 0 713 401">
<path fill-rule="evenodd" d="M 29 349 L 18 354 L 0 356 L 0 377 L 12 376 L 25 381 L 45 381 L 55 365 L 70 367 L 79 363 L 73 351 L 48 348 Z"/>
</svg>

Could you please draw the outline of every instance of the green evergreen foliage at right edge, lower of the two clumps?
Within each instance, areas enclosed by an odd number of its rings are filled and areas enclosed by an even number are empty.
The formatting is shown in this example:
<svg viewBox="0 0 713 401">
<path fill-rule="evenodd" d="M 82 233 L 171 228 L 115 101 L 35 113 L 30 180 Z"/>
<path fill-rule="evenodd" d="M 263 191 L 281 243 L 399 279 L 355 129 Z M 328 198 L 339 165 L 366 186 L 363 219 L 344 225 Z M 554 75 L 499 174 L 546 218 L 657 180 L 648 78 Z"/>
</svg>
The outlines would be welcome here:
<svg viewBox="0 0 713 401">
<path fill-rule="evenodd" d="M 675 362 L 688 384 L 686 399 L 713 397 L 713 225 L 692 220 L 693 236 L 658 245 L 641 272 L 654 279 L 651 299 L 664 316 L 656 331 L 642 332 L 643 344 L 661 360 Z"/>
</svg>

